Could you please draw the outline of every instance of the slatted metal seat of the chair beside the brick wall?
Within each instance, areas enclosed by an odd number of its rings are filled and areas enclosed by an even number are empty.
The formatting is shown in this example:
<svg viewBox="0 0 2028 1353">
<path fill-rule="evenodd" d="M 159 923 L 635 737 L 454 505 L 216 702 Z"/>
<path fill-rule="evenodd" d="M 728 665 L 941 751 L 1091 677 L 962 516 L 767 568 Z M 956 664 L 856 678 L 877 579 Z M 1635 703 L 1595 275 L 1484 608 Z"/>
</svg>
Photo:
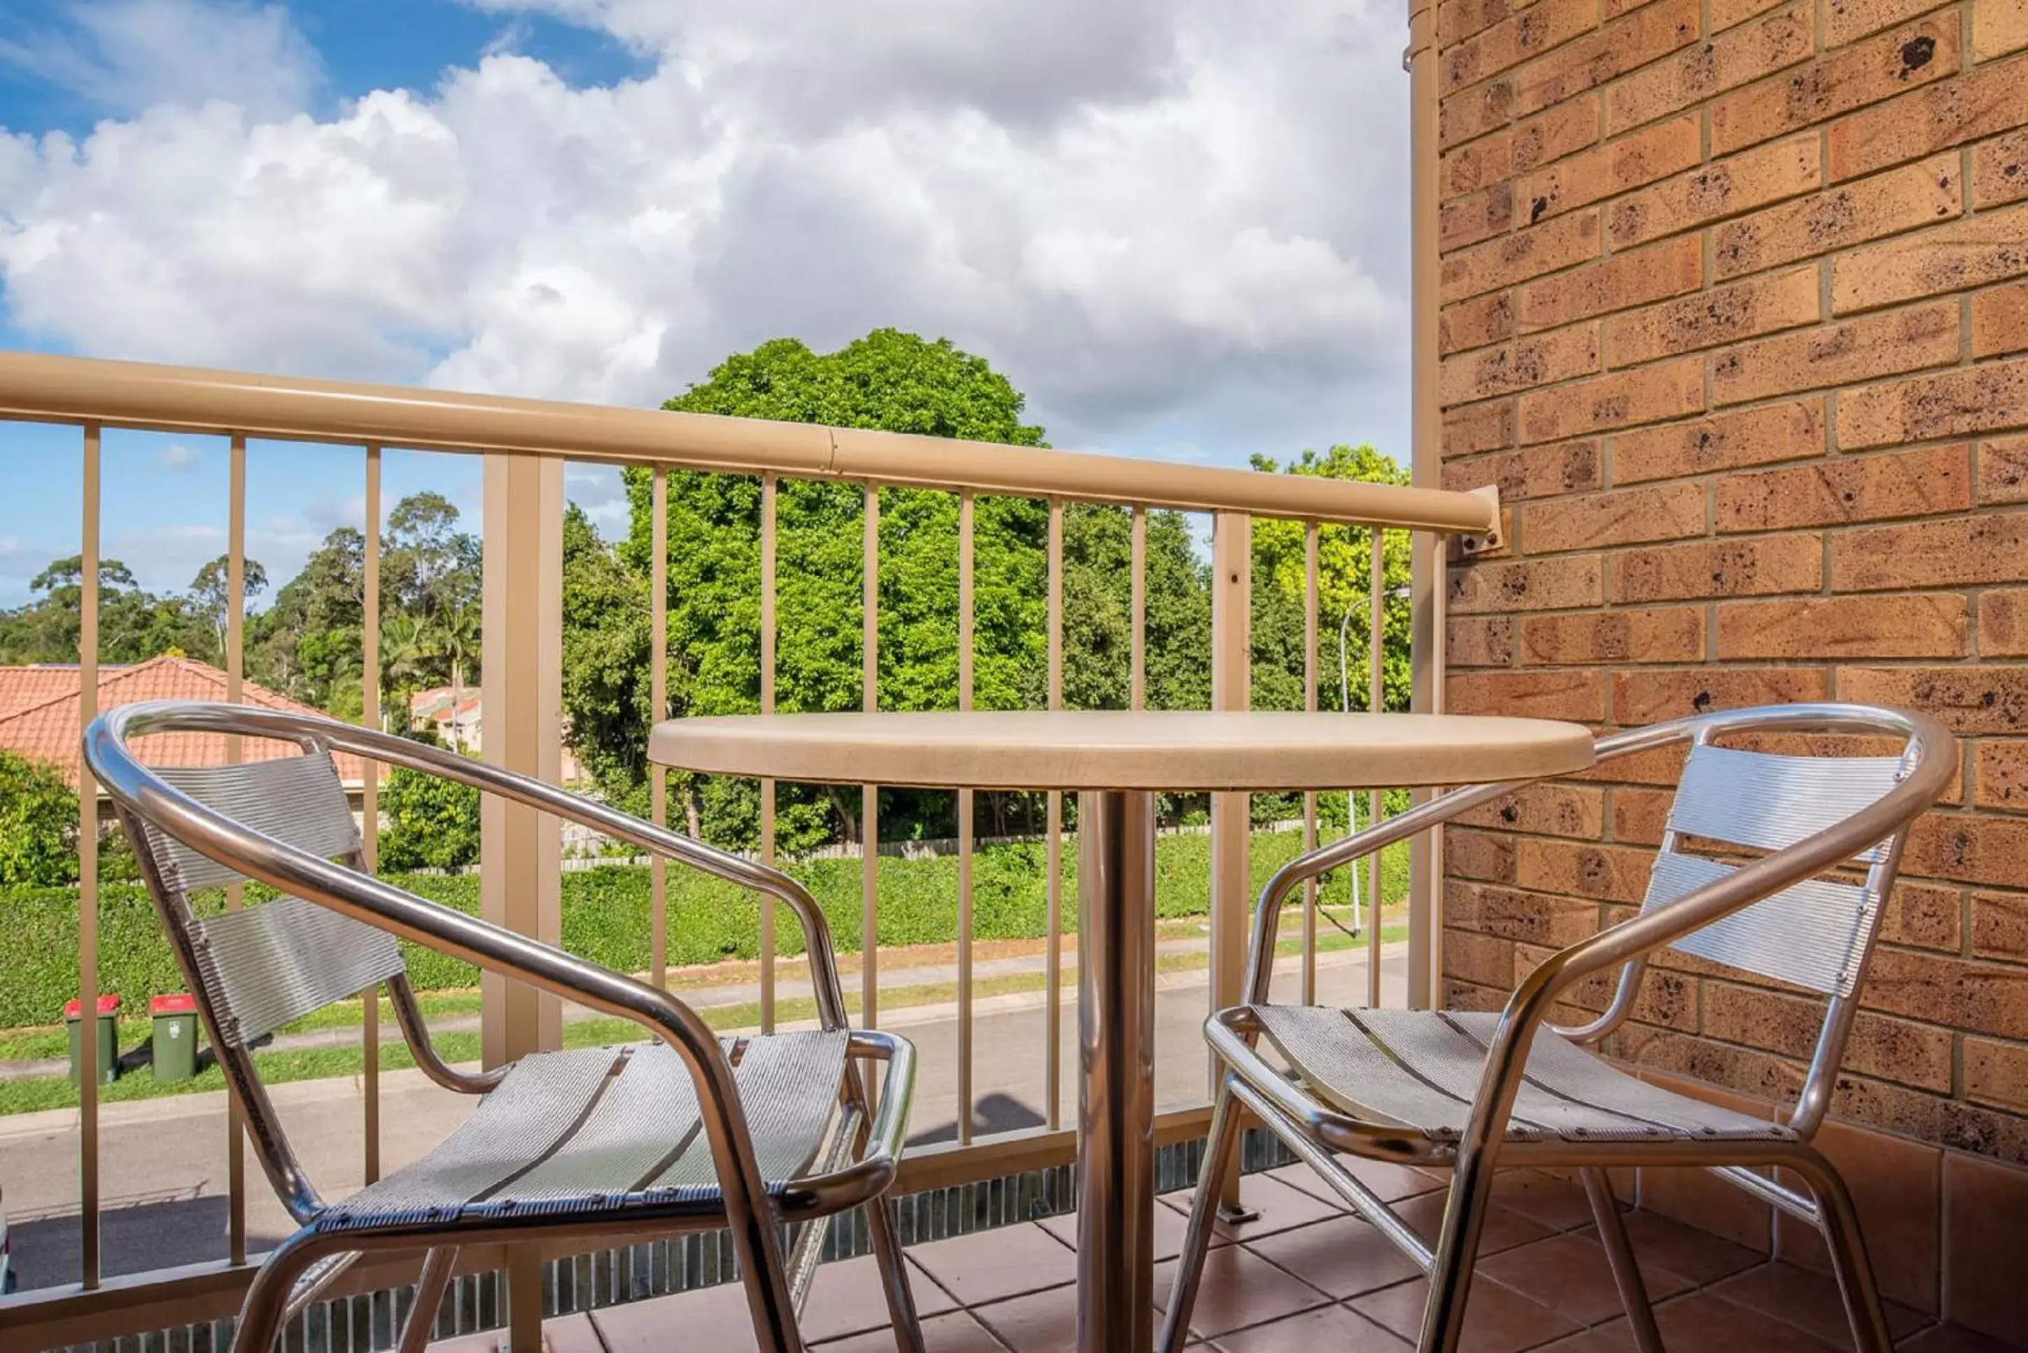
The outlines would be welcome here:
<svg viewBox="0 0 2028 1353">
<path fill-rule="evenodd" d="M 1251 1006 L 1310 1093 L 1361 1122 L 1456 1140 L 1472 1112 L 1499 1014 Z M 1766 1118 L 1736 1114 L 1635 1079 L 1539 1030 L 1507 1140 L 1681 1142 L 1793 1140 Z"/>
</svg>

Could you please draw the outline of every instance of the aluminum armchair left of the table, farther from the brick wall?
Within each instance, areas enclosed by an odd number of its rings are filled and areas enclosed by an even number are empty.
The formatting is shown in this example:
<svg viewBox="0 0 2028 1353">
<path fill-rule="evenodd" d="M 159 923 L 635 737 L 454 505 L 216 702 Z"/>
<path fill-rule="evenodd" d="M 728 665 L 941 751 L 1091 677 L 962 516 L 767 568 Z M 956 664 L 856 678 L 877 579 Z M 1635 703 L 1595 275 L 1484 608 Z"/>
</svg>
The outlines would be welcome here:
<svg viewBox="0 0 2028 1353">
<path fill-rule="evenodd" d="M 132 740 L 162 732 L 276 738 L 302 755 L 148 769 Z M 777 899 L 803 925 L 817 1030 L 722 1039 L 659 988 L 373 878 L 335 751 L 582 822 Z M 278 710 L 122 706 L 85 730 L 85 761 L 134 842 L 254 1150 L 302 1227 L 256 1274 L 239 1347 L 270 1349 L 282 1325 L 363 1254 L 424 1252 L 400 1343 L 418 1353 L 464 1245 L 568 1254 L 570 1243 L 728 1227 L 760 1347 L 799 1351 L 797 1312 L 827 1219 L 864 1207 L 896 1343 L 921 1353 L 884 1197 L 907 1130 L 915 1051 L 890 1032 L 848 1026 L 823 913 L 793 878 L 535 779 Z M 284 897 L 223 913 L 193 907 L 193 893 L 241 878 Z M 397 937 L 633 1020 L 649 1041 L 535 1053 L 479 1073 L 450 1067 L 430 1045 Z M 483 1097 L 414 1164 L 324 1201 L 290 1150 L 249 1049 L 375 986 L 385 988 L 416 1065 L 446 1089 Z M 886 1063 L 876 1110 L 862 1083 L 866 1061 Z M 785 1227 L 801 1227 L 793 1243 Z"/>
</svg>

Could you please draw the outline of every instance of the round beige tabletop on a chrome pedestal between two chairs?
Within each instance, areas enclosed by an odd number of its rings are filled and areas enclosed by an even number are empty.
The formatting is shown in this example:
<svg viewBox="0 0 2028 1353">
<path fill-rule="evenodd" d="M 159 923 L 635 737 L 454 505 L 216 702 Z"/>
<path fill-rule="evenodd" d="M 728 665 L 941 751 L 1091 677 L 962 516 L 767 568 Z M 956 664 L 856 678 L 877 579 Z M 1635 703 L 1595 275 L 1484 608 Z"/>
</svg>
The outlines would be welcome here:
<svg viewBox="0 0 2028 1353">
<path fill-rule="evenodd" d="M 1393 789 L 1568 775 L 1592 765 L 1592 734 L 1476 714 L 734 714 L 655 724 L 647 755 L 683 771 L 933 789 Z"/>
</svg>

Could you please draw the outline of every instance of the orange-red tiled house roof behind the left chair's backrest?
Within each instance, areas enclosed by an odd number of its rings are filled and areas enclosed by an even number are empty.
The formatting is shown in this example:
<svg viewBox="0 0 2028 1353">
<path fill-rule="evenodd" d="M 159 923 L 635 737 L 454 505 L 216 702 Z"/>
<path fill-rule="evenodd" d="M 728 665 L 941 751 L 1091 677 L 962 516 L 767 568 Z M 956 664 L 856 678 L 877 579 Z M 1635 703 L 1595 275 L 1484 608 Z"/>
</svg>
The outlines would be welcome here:
<svg viewBox="0 0 2028 1353">
<path fill-rule="evenodd" d="M 63 777 L 75 785 L 83 738 L 81 686 L 77 667 L 0 667 L 0 749 L 61 767 Z M 254 682 L 241 684 L 239 694 L 241 702 L 268 710 L 320 714 Z M 142 700 L 225 700 L 225 673 L 211 663 L 166 655 L 134 665 L 99 667 L 99 712 Z M 219 732 L 158 732 L 136 738 L 134 751 L 148 765 L 227 763 L 225 734 Z M 241 761 L 294 755 L 298 755 L 294 744 L 270 738 L 245 738 L 239 744 Z M 365 781 L 365 763 L 359 757 L 339 753 L 337 761 L 339 779 L 347 785 Z"/>
</svg>

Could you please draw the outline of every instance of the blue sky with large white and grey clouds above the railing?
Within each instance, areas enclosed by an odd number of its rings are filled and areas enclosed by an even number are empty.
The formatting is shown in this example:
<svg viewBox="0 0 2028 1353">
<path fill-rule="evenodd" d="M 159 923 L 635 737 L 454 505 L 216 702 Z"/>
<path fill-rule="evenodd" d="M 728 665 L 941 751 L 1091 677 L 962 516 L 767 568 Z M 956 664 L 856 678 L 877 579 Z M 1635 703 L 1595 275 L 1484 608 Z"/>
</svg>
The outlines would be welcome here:
<svg viewBox="0 0 2028 1353">
<path fill-rule="evenodd" d="M 1059 446 L 1405 456 L 1395 4 L 16 0 L 0 345 L 653 404 L 781 335 L 947 335 Z M 0 607 L 77 552 L 0 424 Z M 103 554 L 183 588 L 225 444 L 105 434 Z M 355 448 L 249 448 L 276 580 Z M 389 452 L 477 527 L 479 462 Z M 608 531 L 617 477 L 570 489 Z M 258 604 L 258 602 L 256 602 Z"/>
</svg>

